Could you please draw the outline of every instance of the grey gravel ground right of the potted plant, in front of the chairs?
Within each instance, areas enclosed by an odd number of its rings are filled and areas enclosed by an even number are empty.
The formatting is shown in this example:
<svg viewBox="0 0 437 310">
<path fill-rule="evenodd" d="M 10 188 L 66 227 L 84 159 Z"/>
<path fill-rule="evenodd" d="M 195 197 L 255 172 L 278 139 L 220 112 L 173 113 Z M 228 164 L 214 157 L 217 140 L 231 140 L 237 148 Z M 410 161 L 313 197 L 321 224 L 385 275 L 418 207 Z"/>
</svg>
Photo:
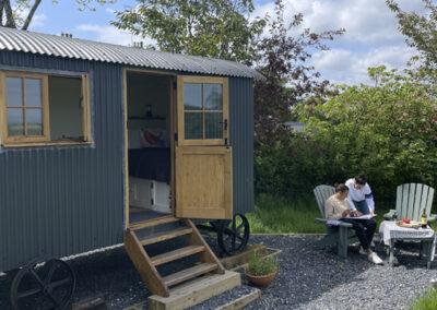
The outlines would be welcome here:
<svg viewBox="0 0 437 310">
<path fill-rule="evenodd" d="M 314 249 L 316 236 L 255 236 L 251 242 L 282 249 L 281 272 L 247 309 L 408 309 L 437 277 L 416 245 L 402 243 L 399 266 L 374 265 L 350 247 L 347 260 Z M 386 259 L 383 248 L 376 251 Z"/>
</svg>

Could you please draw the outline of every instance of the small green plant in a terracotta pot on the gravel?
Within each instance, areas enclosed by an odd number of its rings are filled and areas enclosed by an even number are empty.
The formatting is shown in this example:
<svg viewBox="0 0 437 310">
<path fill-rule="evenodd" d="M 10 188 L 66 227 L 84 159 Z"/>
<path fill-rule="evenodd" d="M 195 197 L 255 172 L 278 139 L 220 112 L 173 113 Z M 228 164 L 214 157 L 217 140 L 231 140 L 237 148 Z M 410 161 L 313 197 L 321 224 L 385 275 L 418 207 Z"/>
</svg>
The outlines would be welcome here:
<svg viewBox="0 0 437 310">
<path fill-rule="evenodd" d="M 248 279 L 257 286 L 269 285 L 279 270 L 280 263 L 274 257 L 262 257 L 256 253 L 245 271 Z"/>
</svg>

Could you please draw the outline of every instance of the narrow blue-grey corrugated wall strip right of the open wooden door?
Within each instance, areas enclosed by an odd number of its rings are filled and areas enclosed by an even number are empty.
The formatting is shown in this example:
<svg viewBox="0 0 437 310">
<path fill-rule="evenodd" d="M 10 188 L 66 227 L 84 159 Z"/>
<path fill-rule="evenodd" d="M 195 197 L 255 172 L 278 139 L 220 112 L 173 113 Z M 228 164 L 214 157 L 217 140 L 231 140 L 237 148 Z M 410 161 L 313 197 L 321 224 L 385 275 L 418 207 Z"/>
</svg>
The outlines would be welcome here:
<svg viewBox="0 0 437 310">
<path fill-rule="evenodd" d="M 253 81 L 229 78 L 234 214 L 253 211 Z"/>
</svg>

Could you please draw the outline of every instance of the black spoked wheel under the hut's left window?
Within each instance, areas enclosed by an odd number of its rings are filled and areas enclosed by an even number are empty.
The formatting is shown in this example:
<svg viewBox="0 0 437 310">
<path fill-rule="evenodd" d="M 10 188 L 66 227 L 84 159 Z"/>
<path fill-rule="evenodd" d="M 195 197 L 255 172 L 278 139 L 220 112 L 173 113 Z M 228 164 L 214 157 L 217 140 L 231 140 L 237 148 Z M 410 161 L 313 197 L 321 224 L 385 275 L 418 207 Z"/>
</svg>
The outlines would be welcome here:
<svg viewBox="0 0 437 310">
<path fill-rule="evenodd" d="M 61 260 L 43 266 L 32 262 L 19 271 L 11 285 L 11 303 L 19 309 L 66 309 L 75 287 L 74 272 Z"/>
</svg>

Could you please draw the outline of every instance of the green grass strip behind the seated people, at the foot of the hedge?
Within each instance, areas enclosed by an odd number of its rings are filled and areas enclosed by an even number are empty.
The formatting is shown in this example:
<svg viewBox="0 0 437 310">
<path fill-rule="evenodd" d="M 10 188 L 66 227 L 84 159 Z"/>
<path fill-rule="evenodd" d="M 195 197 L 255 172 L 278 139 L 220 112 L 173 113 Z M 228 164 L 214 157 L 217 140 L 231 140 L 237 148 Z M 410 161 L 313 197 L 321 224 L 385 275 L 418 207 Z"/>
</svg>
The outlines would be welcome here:
<svg viewBox="0 0 437 310">
<path fill-rule="evenodd" d="M 393 202 L 376 201 L 376 220 L 383 220 L 382 215 L 394 208 Z M 300 195 L 296 199 L 277 198 L 259 194 L 256 198 L 255 211 L 246 214 L 253 234 L 323 234 L 323 224 L 315 223 L 320 211 L 314 195 Z M 437 230 L 437 224 L 432 227 Z M 437 309 L 437 308 L 436 308 Z"/>
</svg>

